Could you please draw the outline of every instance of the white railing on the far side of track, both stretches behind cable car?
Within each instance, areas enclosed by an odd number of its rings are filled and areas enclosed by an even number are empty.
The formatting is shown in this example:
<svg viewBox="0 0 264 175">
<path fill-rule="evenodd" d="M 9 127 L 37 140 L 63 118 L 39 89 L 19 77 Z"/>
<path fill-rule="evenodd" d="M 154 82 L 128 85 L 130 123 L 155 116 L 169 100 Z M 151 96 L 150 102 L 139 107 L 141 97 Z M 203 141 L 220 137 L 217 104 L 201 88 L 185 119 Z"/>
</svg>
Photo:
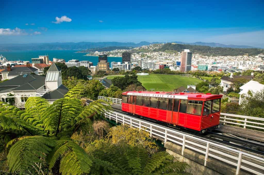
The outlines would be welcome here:
<svg viewBox="0 0 264 175">
<path fill-rule="evenodd" d="M 103 99 L 105 101 L 110 101 L 116 104 L 122 104 L 122 99 L 103 97 L 103 96 L 98 96 L 98 99 Z M 246 127 L 258 128 L 264 131 L 264 118 L 244 116 L 244 115 L 235 115 L 235 114 L 226 114 L 226 113 L 220 113 L 220 114 L 222 115 L 220 116 L 220 122 L 223 122 L 224 125 L 235 124 L 235 125 L 241 125 L 244 128 Z M 235 117 L 235 118 L 230 118 L 230 117 Z M 248 120 L 254 120 L 254 121 L 248 121 Z M 258 126 L 254 126 L 251 124 L 255 124 Z"/>
</svg>

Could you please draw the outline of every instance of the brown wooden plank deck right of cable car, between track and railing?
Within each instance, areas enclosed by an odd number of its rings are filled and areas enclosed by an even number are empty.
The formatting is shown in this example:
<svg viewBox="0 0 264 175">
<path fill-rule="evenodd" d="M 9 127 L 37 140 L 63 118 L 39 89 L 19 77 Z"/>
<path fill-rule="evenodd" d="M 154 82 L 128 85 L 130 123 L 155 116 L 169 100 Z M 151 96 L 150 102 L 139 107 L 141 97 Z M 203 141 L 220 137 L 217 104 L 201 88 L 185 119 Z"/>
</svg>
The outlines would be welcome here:
<svg viewBox="0 0 264 175">
<path fill-rule="evenodd" d="M 229 126 L 229 125 L 220 125 L 220 128 L 216 130 L 224 133 L 233 134 L 235 136 L 264 142 L 264 132 L 262 131 L 256 131 L 256 130 L 237 127 L 237 126 Z"/>
</svg>

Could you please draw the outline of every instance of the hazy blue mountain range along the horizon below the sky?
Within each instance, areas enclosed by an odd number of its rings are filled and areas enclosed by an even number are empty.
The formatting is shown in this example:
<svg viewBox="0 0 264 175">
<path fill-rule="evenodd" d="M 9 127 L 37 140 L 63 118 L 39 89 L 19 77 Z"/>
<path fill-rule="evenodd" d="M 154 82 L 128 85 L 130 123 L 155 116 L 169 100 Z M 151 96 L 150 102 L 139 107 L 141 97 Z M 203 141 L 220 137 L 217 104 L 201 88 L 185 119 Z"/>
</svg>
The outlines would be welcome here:
<svg viewBox="0 0 264 175">
<path fill-rule="evenodd" d="M 79 43 L 30 43 L 30 44 L 0 44 L 0 51 L 19 51 L 19 50 L 86 50 L 91 48 L 103 47 L 140 47 L 143 45 L 160 44 L 160 42 L 140 42 L 140 43 L 121 43 L 121 42 L 79 42 Z M 244 45 L 224 45 L 219 43 L 184 43 L 172 42 L 178 44 L 203 45 L 210 47 L 227 47 L 227 48 L 256 48 Z"/>
</svg>

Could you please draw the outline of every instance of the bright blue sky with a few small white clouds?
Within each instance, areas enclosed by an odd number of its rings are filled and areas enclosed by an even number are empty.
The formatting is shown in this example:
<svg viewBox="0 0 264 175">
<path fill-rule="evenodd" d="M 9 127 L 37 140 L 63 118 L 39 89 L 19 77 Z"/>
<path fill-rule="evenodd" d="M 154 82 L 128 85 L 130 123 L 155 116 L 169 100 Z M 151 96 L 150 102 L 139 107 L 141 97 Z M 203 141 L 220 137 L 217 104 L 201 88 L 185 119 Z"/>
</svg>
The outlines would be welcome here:
<svg viewBox="0 0 264 175">
<path fill-rule="evenodd" d="M 264 48 L 264 1 L 2 1 L 0 43 L 215 42 Z"/>
</svg>

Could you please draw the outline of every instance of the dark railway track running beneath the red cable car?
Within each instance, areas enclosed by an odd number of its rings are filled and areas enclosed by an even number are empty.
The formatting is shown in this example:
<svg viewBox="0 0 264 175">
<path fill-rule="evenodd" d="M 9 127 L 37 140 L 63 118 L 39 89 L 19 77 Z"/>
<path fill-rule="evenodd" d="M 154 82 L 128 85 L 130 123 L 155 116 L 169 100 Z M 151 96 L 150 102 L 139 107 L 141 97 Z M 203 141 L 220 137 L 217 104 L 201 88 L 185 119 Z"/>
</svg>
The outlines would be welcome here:
<svg viewBox="0 0 264 175">
<path fill-rule="evenodd" d="M 87 100 L 87 102 L 89 103 L 92 101 Z M 261 155 L 264 158 L 264 145 L 261 143 L 252 142 L 252 141 L 248 141 L 248 140 L 242 140 L 239 138 L 223 135 L 223 133 L 216 133 L 216 132 L 212 132 L 212 131 L 200 134 L 200 133 L 197 133 L 195 131 L 190 131 L 190 130 L 174 127 L 173 125 L 167 125 L 167 123 L 164 123 L 164 122 L 154 121 L 154 120 L 148 119 L 147 117 L 141 117 L 141 116 L 129 114 L 127 112 L 122 111 L 119 108 L 112 107 L 112 109 L 115 112 L 119 112 L 119 113 L 131 116 L 131 117 L 135 117 L 138 119 L 143 119 L 143 120 L 151 122 L 151 123 L 158 123 L 159 125 L 162 125 L 164 127 L 173 128 L 173 129 L 176 129 L 180 132 L 184 132 L 184 133 L 190 134 L 192 136 L 196 136 L 198 138 L 203 138 L 203 139 L 214 141 L 217 143 L 222 143 L 226 146 L 233 147 L 237 150 L 247 151 L 250 153 Z"/>
</svg>

